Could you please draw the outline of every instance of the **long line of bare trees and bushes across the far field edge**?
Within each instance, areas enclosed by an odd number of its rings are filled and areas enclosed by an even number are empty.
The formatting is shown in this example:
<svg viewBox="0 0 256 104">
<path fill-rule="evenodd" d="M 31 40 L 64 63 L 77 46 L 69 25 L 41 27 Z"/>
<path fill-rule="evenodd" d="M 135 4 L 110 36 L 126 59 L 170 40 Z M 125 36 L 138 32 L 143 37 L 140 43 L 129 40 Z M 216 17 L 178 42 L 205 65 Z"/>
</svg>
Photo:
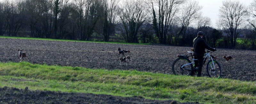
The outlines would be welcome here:
<svg viewBox="0 0 256 104">
<path fill-rule="evenodd" d="M 0 35 L 192 46 L 198 31 L 216 48 L 256 49 L 256 0 L 226 0 L 217 28 L 196 0 L 0 2 Z"/>
</svg>

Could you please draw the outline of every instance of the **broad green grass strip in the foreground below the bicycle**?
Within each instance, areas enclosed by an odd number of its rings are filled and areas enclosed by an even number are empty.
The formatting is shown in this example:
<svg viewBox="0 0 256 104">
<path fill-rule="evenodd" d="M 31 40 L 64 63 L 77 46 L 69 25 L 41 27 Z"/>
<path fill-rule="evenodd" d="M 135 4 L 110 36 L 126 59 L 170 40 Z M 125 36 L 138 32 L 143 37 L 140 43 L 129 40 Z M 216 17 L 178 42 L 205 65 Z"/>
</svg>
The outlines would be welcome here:
<svg viewBox="0 0 256 104">
<path fill-rule="evenodd" d="M 255 82 L 139 71 L 0 63 L 0 87 L 142 96 L 200 103 L 256 103 Z"/>
</svg>

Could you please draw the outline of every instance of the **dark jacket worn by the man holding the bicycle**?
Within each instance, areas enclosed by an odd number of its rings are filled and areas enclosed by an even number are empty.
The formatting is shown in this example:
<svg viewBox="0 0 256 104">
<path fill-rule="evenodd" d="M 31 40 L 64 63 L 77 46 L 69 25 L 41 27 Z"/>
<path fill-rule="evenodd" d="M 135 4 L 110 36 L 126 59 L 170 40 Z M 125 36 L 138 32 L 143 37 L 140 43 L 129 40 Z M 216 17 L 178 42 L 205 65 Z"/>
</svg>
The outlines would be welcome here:
<svg viewBox="0 0 256 104">
<path fill-rule="evenodd" d="M 193 40 L 193 49 L 195 52 L 194 55 L 195 56 L 204 56 L 205 48 L 208 50 L 214 51 L 214 48 L 207 45 L 203 38 L 201 38 L 200 36 L 197 36 Z"/>
</svg>

